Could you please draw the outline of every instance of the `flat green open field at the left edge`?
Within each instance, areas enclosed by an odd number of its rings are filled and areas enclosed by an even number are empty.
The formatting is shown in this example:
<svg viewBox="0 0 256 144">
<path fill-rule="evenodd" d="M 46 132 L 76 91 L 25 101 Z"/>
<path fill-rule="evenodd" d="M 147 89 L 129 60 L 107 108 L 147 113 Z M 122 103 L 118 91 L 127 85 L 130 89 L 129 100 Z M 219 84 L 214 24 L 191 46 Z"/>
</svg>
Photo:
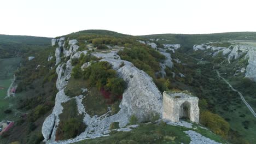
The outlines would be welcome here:
<svg viewBox="0 0 256 144">
<path fill-rule="evenodd" d="M 8 99 L 4 98 L 7 96 L 14 71 L 18 68 L 20 61 L 19 57 L 0 59 L 0 121 L 7 116 L 4 110 L 10 106 L 10 103 Z"/>
</svg>

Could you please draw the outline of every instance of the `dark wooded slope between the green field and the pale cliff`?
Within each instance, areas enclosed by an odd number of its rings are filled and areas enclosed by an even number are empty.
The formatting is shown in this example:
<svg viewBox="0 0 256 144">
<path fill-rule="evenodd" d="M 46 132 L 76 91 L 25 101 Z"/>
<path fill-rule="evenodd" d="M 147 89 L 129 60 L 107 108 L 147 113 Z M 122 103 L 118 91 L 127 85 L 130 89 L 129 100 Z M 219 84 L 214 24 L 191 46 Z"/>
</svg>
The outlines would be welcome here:
<svg viewBox="0 0 256 144">
<path fill-rule="evenodd" d="M 30 49 L 22 55 L 21 66 L 15 73 L 17 93 L 15 99 L 12 99 L 16 116 L 8 119 L 15 121 L 15 125 L 1 136 L 1 142 L 40 143 L 43 140 L 42 124 L 54 106 L 57 93 L 55 59 L 47 61 L 50 53 L 53 54 L 54 50 L 44 47 Z M 27 57 L 31 55 L 35 58 L 28 61 Z M 50 70 L 50 67 L 53 69 Z"/>
</svg>

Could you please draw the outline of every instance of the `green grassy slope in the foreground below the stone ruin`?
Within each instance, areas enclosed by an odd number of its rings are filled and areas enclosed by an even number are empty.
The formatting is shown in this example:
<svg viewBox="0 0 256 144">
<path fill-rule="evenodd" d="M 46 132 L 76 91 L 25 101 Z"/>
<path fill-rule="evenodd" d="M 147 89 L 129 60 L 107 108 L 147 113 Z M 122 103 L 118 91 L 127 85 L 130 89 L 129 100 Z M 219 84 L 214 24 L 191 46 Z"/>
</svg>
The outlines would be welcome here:
<svg viewBox="0 0 256 144">
<path fill-rule="evenodd" d="M 140 124 L 138 128 L 132 131 L 112 131 L 110 136 L 100 137 L 97 139 L 84 140 L 77 142 L 82 143 L 189 143 L 190 137 L 184 133 L 187 130 L 194 130 L 203 136 L 209 137 L 220 143 L 225 143 L 219 136 L 211 133 L 209 130 L 202 129 L 194 124 L 194 128 L 167 125 L 164 122 L 160 124 Z"/>
</svg>

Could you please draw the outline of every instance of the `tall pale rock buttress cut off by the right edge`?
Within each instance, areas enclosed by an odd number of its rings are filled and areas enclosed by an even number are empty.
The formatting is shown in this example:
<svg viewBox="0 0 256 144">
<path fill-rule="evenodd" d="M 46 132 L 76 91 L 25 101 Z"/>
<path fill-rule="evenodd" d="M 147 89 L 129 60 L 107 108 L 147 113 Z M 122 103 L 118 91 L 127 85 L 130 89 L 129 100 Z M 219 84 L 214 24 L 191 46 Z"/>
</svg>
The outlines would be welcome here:
<svg viewBox="0 0 256 144">
<path fill-rule="evenodd" d="M 249 52 L 249 60 L 246 68 L 246 77 L 256 81 L 256 47 L 252 47 Z"/>
</svg>

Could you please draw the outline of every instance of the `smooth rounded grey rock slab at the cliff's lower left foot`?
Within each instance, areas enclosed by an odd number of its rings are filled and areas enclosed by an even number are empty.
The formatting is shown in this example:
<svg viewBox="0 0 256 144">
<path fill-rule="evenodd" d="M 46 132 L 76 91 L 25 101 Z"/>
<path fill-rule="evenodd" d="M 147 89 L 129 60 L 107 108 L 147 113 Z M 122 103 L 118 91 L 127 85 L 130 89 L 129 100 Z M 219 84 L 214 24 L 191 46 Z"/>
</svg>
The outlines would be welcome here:
<svg viewBox="0 0 256 144">
<path fill-rule="evenodd" d="M 44 119 L 43 127 L 42 127 L 42 134 L 44 139 L 49 140 L 51 137 L 51 132 L 53 131 L 55 123 L 55 115 L 51 113 L 48 117 Z"/>
</svg>

